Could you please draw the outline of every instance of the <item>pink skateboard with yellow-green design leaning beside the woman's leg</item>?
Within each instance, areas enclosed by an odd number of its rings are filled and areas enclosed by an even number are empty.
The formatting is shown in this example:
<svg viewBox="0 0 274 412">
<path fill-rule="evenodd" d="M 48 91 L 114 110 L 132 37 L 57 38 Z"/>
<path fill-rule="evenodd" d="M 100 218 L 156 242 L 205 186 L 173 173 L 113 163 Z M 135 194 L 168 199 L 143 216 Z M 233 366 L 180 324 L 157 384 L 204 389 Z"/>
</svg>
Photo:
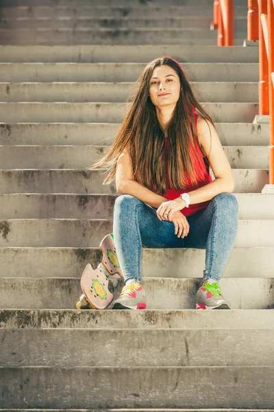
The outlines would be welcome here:
<svg viewBox="0 0 274 412">
<path fill-rule="evenodd" d="M 106 235 L 99 245 L 103 260 L 96 269 L 88 263 L 81 277 L 83 295 L 76 304 L 77 309 L 105 309 L 114 299 L 108 290 L 108 277 L 123 277 L 114 245 L 114 235 Z"/>
</svg>

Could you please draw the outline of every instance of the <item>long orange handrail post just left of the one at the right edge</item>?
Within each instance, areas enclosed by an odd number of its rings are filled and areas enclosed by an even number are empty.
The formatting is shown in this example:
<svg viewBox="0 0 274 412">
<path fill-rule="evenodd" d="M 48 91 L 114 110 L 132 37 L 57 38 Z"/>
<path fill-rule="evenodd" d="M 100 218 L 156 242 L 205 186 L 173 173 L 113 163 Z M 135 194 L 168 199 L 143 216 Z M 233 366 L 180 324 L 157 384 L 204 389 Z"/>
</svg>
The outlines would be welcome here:
<svg viewBox="0 0 274 412">
<path fill-rule="evenodd" d="M 262 30 L 261 15 L 267 14 L 267 0 L 258 0 L 259 3 L 259 114 L 269 115 L 269 65 L 267 62 L 266 43 Z"/>
</svg>

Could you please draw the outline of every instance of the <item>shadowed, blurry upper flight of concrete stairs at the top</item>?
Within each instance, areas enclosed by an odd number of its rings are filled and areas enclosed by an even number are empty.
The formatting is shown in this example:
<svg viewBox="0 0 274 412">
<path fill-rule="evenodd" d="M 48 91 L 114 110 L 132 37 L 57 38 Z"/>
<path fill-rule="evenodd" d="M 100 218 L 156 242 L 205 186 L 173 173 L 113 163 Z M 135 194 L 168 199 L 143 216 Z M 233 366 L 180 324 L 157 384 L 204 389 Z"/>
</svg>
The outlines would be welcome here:
<svg viewBox="0 0 274 412">
<path fill-rule="evenodd" d="M 1 44 L 216 45 L 212 0 L 1 0 Z M 235 0 L 235 45 L 247 1 Z M 164 36 L 163 36 L 164 31 Z"/>
</svg>

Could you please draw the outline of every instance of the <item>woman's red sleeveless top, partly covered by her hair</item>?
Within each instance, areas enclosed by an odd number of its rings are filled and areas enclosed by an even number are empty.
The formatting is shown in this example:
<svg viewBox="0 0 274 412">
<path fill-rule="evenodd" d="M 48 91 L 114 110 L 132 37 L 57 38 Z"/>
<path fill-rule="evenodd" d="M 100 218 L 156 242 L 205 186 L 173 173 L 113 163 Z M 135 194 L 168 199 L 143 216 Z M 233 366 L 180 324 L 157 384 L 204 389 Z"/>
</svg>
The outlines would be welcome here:
<svg viewBox="0 0 274 412">
<path fill-rule="evenodd" d="M 196 111 L 193 112 L 195 116 L 195 124 L 197 128 L 197 119 L 199 115 L 196 113 Z M 164 140 L 164 151 L 166 152 L 166 148 L 168 145 L 168 138 L 166 137 Z M 197 157 L 195 155 L 194 149 L 192 144 L 190 144 L 190 151 L 192 152 L 192 155 L 194 155 L 194 163 L 195 167 L 197 169 L 197 174 L 198 174 L 198 183 L 197 185 L 191 185 L 190 183 L 190 178 L 189 176 L 186 176 L 186 180 L 188 181 L 188 185 L 184 187 L 184 189 L 181 190 L 176 190 L 174 187 L 170 187 L 169 190 L 162 194 L 162 196 L 166 199 L 169 199 L 169 201 L 173 201 L 175 198 L 178 198 L 180 194 L 182 193 L 189 193 L 192 192 L 193 190 L 199 189 L 199 187 L 203 187 L 205 185 L 208 185 L 208 183 L 212 182 L 212 177 L 210 176 L 210 165 L 208 163 L 208 159 L 206 157 L 203 157 L 203 153 L 201 152 L 200 146 L 198 142 L 195 139 L 195 148 L 198 152 L 198 155 L 200 159 L 203 161 L 203 167 L 201 169 L 201 166 L 198 163 Z M 166 173 L 166 181 L 171 184 L 169 181 L 169 176 Z M 152 189 L 153 192 L 156 192 L 155 188 Z M 184 216 L 190 216 L 192 214 L 197 213 L 197 211 L 200 211 L 202 209 L 205 209 L 209 205 L 210 201 L 206 202 L 201 202 L 201 203 L 195 203 L 193 205 L 189 205 L 189 207 L 184 207 L 184 209 L 180 210 Z"/>
</svg>

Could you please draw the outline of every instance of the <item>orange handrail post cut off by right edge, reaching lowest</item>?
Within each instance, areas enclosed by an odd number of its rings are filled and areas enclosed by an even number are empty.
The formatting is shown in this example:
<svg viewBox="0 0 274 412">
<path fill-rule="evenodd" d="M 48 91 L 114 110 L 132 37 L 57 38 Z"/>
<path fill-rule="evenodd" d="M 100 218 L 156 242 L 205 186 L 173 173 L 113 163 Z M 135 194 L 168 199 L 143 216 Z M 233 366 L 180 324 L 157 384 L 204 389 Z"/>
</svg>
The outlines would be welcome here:
<svg viewBox="0 0 274 412">
<path fill-rule="evenodd" d="M 269 183 L 274 185 L 274 1 L 267 1 L 269 32 Z"/>
</svg>

